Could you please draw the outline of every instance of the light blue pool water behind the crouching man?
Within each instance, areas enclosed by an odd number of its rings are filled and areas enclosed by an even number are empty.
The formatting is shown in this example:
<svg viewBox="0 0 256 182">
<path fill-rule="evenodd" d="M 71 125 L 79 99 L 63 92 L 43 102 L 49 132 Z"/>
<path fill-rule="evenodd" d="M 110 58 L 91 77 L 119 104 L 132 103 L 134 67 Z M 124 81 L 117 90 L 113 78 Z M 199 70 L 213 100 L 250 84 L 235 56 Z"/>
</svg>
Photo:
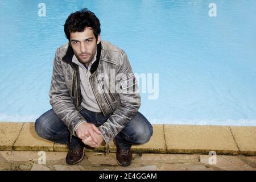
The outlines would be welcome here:
<svg viewBox="0 0 256 182">
<path fill-rule="evenodd" d="M 42 2 L 46 16 L 38 16 Z M 211 2 L 1 0 L 0 121 L 35 121 L 51 109 L 63 24 L 88 7 L 135 73 L 159 74 L 158 98 L 141 92 L 139 111 L 151 123 L 256 126 L 256 1 L 215 0 L 216 17 Z"/>
</svg>

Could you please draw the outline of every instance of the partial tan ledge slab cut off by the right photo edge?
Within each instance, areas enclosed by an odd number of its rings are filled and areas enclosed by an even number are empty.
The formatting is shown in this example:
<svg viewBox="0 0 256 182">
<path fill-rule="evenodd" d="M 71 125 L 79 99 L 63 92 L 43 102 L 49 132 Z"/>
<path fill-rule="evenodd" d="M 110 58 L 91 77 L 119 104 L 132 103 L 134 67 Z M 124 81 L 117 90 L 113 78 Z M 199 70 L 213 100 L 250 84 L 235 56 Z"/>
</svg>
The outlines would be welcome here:
<svg viewBox="0 0 256 182">
<path fill-rule="evenodd" d="M 256 155 L 256 127 L 230 126 L 234 139 L 243 155 Z"/>
</svg>

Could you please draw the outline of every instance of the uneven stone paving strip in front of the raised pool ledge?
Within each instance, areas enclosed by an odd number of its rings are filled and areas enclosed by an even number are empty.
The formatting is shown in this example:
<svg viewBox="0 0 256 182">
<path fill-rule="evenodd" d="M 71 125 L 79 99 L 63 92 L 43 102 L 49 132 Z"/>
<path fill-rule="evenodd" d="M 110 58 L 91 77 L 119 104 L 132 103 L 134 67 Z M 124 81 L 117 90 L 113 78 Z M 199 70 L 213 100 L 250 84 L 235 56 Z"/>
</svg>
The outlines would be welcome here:
<svg viewBox="0 0 256 182">
<path fill-rule="evenodd" d="M 85 152 L 85 158 L 78 164 L 69 166 L 65 163 L 67 152 L 46 151 L 46 164 L 38 164 L 39 151 L 1 151 L 0 170 L 51 170 L 51 171 L 213 171 L 240 170 L 255 171 L 256 158 L 252 156 L 217 155 L 216 164 L 209 164 L 210 155 L 176 155 L 176 154 L 135 154 L 129 167 L 121 167 L 114 162 L 115 155 L 101 152 Z M 155 157 L 154 160 L 152 157 Z M 107 162 L 107 160 L 109 160 Z"/>
</svg>

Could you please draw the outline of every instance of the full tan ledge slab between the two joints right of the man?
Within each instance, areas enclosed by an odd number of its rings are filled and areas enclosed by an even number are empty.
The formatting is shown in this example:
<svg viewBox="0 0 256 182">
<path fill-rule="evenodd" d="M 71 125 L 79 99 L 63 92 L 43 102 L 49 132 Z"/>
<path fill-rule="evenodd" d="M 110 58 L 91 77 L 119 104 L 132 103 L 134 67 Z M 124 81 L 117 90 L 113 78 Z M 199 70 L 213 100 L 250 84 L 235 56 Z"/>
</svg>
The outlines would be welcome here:
<svg viewBox="0 0 256 182">
<path fill-rule="evenodd" d="M 180 154 L 239 154 L 229 126 L 164 125 L 167 152 Z"/>
</svg>

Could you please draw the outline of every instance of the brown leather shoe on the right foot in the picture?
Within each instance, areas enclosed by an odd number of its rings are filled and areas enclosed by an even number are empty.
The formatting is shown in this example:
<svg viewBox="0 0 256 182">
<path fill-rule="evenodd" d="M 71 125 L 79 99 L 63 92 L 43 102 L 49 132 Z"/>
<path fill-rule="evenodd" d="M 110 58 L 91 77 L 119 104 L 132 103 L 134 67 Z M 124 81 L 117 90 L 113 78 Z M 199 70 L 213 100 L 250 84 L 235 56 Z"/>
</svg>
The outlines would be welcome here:
<svg viewBox="0 0 256 182">
<path fill-rule="evenodd" d="M 115 144 L 114 139 L 113 139 L 113 142 Z M 131 160 L 133 160 L 133 154 L 131 154 L 131 148 L 129 148 L 129 150 L 121 150 L 121 148 L 119 148 L 117 144 L 115 144 L 115 146 L 117 147 L 117 154 L 116 154 L 117 163 L 123 167 L 130 166 Z"/>
</svg>

